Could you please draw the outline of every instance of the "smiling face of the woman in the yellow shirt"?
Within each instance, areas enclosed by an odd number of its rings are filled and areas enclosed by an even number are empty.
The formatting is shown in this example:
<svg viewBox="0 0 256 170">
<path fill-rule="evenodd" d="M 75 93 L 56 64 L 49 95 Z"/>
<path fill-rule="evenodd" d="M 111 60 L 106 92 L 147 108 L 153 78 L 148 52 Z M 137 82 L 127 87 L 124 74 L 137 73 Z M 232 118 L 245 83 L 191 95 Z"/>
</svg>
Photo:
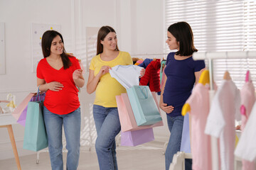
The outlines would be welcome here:
<svg viewBox="0 0 256 170">
<path fill-rule="evenodd" d="M 100 43 L 103 45 L 103 48 L 107 50 L 116 50 L 117 49 L 117 35 L 114 32 L 110 32 L 106 35 L 104 40 L 100 40 Z"/>
</svg>

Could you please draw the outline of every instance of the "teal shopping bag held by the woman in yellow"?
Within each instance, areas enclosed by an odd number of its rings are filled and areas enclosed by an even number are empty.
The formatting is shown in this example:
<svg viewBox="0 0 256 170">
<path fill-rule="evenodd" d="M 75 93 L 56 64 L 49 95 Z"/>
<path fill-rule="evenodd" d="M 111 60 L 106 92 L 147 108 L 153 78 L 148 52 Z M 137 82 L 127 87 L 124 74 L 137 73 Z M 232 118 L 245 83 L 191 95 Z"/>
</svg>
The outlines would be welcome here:
<svg viewBox="0 0 256 170">
<path fill-rule="evenodd" d="M 162 120 L 149 86 L 132 86 L 127 89 L 127 94 L 138 126 L 153 125 Z"/>
</svg>

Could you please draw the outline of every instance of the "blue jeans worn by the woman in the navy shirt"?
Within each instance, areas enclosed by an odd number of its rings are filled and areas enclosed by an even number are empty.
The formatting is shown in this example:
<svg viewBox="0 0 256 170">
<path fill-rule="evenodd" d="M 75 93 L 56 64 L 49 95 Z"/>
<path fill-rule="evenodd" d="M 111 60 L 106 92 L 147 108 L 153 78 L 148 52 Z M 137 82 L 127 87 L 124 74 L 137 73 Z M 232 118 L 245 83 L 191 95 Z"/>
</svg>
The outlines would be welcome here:
<svg viewBox="0 0 256 170">
<path fill-rule="evenodd" d="M 169 170 L 169 166 L 172 162 L 174 154 L 176 154 L 181 149 L 181 136 L 184 117 L 182 115 L 174 117 L 171 117 L 169 115 L 166 116 L 168 128 L 171 132 L 171 136 L 169 138 L 169 143 L 166 147 L 165 153 L 166 170 Z"/>
</svg>

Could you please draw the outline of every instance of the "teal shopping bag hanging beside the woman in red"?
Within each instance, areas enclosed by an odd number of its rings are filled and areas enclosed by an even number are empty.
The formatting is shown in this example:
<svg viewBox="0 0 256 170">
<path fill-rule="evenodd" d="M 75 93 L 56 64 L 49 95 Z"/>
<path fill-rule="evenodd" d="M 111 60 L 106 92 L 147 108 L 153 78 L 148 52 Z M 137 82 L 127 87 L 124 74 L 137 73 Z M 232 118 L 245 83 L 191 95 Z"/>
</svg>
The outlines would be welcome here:
<svg viewBox="0 0 256 170">
<path fill-rule="evenodd" d="M 36 101 L 28 102 L 23 149 L 38 151 L 46 147 L 48 139 L 43 121 L 43 101 L 36 98 Z"/>
</svg>

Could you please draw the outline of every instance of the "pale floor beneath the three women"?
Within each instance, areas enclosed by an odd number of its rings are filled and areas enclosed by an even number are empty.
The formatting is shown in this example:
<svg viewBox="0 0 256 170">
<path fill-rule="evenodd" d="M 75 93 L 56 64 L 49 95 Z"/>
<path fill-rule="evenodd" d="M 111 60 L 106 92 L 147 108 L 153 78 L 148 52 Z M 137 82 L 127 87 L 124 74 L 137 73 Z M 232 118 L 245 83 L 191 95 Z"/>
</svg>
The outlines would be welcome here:
<svg viewBox="0 0 256 170">
<path fill-rule="evenodd" d="M 20 157 L 22 170 L 45 170 L 50 168 L 48 152 L 39 154 L 39 164 L 36 164 L 36 154 Z M 66 153 L 63 153 L 65 164 Z M 117 147 L 117 162 L 120 170 L 158 170 L 164 167 L 163 144 L 148 142 L 137 147 Z M 5 159 L 0 161 L 1 170 L 17 169 L 15 159 Z M 65 169 L 65 168 L 64 168 Z M 80 152 L 80 162 L 78 170 L 97 170 L 97 155 L 95 149 Z"/>
</svg>

